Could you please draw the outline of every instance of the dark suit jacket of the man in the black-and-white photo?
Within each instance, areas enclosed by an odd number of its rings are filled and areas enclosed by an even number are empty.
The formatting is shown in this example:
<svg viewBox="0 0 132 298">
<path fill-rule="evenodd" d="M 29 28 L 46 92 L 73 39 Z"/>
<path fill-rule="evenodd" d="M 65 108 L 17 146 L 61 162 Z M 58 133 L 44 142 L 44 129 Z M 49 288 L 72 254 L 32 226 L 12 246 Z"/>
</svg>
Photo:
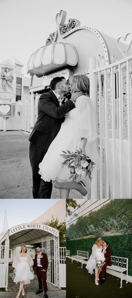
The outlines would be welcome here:
<svg viewBox="0 0 132 298">
<path fill-rule="evenodd" d="M 59 106 L 59 101 L 51 90 L 43 93 L 38 101 L 38 118 L 29 136 L 29 141 L 47 151 L 61 128 L 61 118 L 75 108 L 71 100 Z"/>
</svg>

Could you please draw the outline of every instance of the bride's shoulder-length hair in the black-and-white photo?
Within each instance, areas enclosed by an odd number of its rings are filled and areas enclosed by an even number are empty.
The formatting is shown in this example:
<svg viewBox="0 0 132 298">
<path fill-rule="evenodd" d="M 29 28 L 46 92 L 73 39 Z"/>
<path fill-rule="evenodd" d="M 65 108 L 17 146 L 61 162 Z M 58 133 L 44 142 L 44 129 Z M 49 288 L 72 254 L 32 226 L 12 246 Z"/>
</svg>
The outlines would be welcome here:
<svg viewBox="0 0 132 298">
<path fill-rule="evenodd" d="M 84 95 L 89 96 L 89 78 L 86 75 L 73 75 L 69 79 L 71 92 L 82 91 Z"/>
</svg>

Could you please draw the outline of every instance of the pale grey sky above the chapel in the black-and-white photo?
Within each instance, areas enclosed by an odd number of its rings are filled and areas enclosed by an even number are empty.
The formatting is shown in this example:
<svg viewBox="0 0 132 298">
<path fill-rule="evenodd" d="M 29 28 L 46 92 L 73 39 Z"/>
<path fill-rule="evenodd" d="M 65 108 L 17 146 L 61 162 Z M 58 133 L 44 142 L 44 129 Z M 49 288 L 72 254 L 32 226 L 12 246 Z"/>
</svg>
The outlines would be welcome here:
<svg viewBox="0 0 132 298">
<path fill-rule="evenodd" d="M 55 16 L 67 11 L 114 38 L 132 32 L 131 0 L 0 0 L 0 62 L 15 56 L 23 64 L 23 74 L 32 53 L 56 30 Z"/>
</svg>

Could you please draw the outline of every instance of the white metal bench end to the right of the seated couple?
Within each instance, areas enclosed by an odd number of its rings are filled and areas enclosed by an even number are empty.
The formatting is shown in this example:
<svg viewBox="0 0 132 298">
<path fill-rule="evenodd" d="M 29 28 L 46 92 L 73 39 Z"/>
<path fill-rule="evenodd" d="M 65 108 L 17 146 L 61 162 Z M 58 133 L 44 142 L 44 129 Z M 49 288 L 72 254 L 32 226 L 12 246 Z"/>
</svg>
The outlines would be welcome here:
<svg viewBox="0 0 132 298">
<path fill-rule="evenodd" d="M 122 288 L 122 280 L 126 279 L 126 283 L 128 283 L 128 258 L 111 256 L 111 264 L 112 266 L 107 266 L 106 268 L 109 268 L 121 273 L 120 288 Z M 125 271 L 126 271 L 126 276 L 122 278 L 122 273 Z"/>
</svg>

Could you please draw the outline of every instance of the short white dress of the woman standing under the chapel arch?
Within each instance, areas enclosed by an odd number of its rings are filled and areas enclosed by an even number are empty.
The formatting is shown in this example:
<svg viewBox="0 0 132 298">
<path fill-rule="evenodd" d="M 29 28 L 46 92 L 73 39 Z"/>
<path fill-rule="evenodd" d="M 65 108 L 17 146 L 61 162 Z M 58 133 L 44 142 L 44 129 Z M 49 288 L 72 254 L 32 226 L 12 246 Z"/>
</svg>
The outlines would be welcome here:
<svg viewBox="0 0 132 298">
<path fill-rule="evenodd" d="M 19 281 L 24 281 L 24 285 L 30 283 L 30 280 L 34 279 L 34 274 L 30 271 L 33 264 L 32 257 L 29 254 L 27 254 L 27 257 L 20 257 L 20 254 L 18 254 L 12 263 L 12 267 L 16 268 L 14 283 L 17 284 Z"/>
</svg>

